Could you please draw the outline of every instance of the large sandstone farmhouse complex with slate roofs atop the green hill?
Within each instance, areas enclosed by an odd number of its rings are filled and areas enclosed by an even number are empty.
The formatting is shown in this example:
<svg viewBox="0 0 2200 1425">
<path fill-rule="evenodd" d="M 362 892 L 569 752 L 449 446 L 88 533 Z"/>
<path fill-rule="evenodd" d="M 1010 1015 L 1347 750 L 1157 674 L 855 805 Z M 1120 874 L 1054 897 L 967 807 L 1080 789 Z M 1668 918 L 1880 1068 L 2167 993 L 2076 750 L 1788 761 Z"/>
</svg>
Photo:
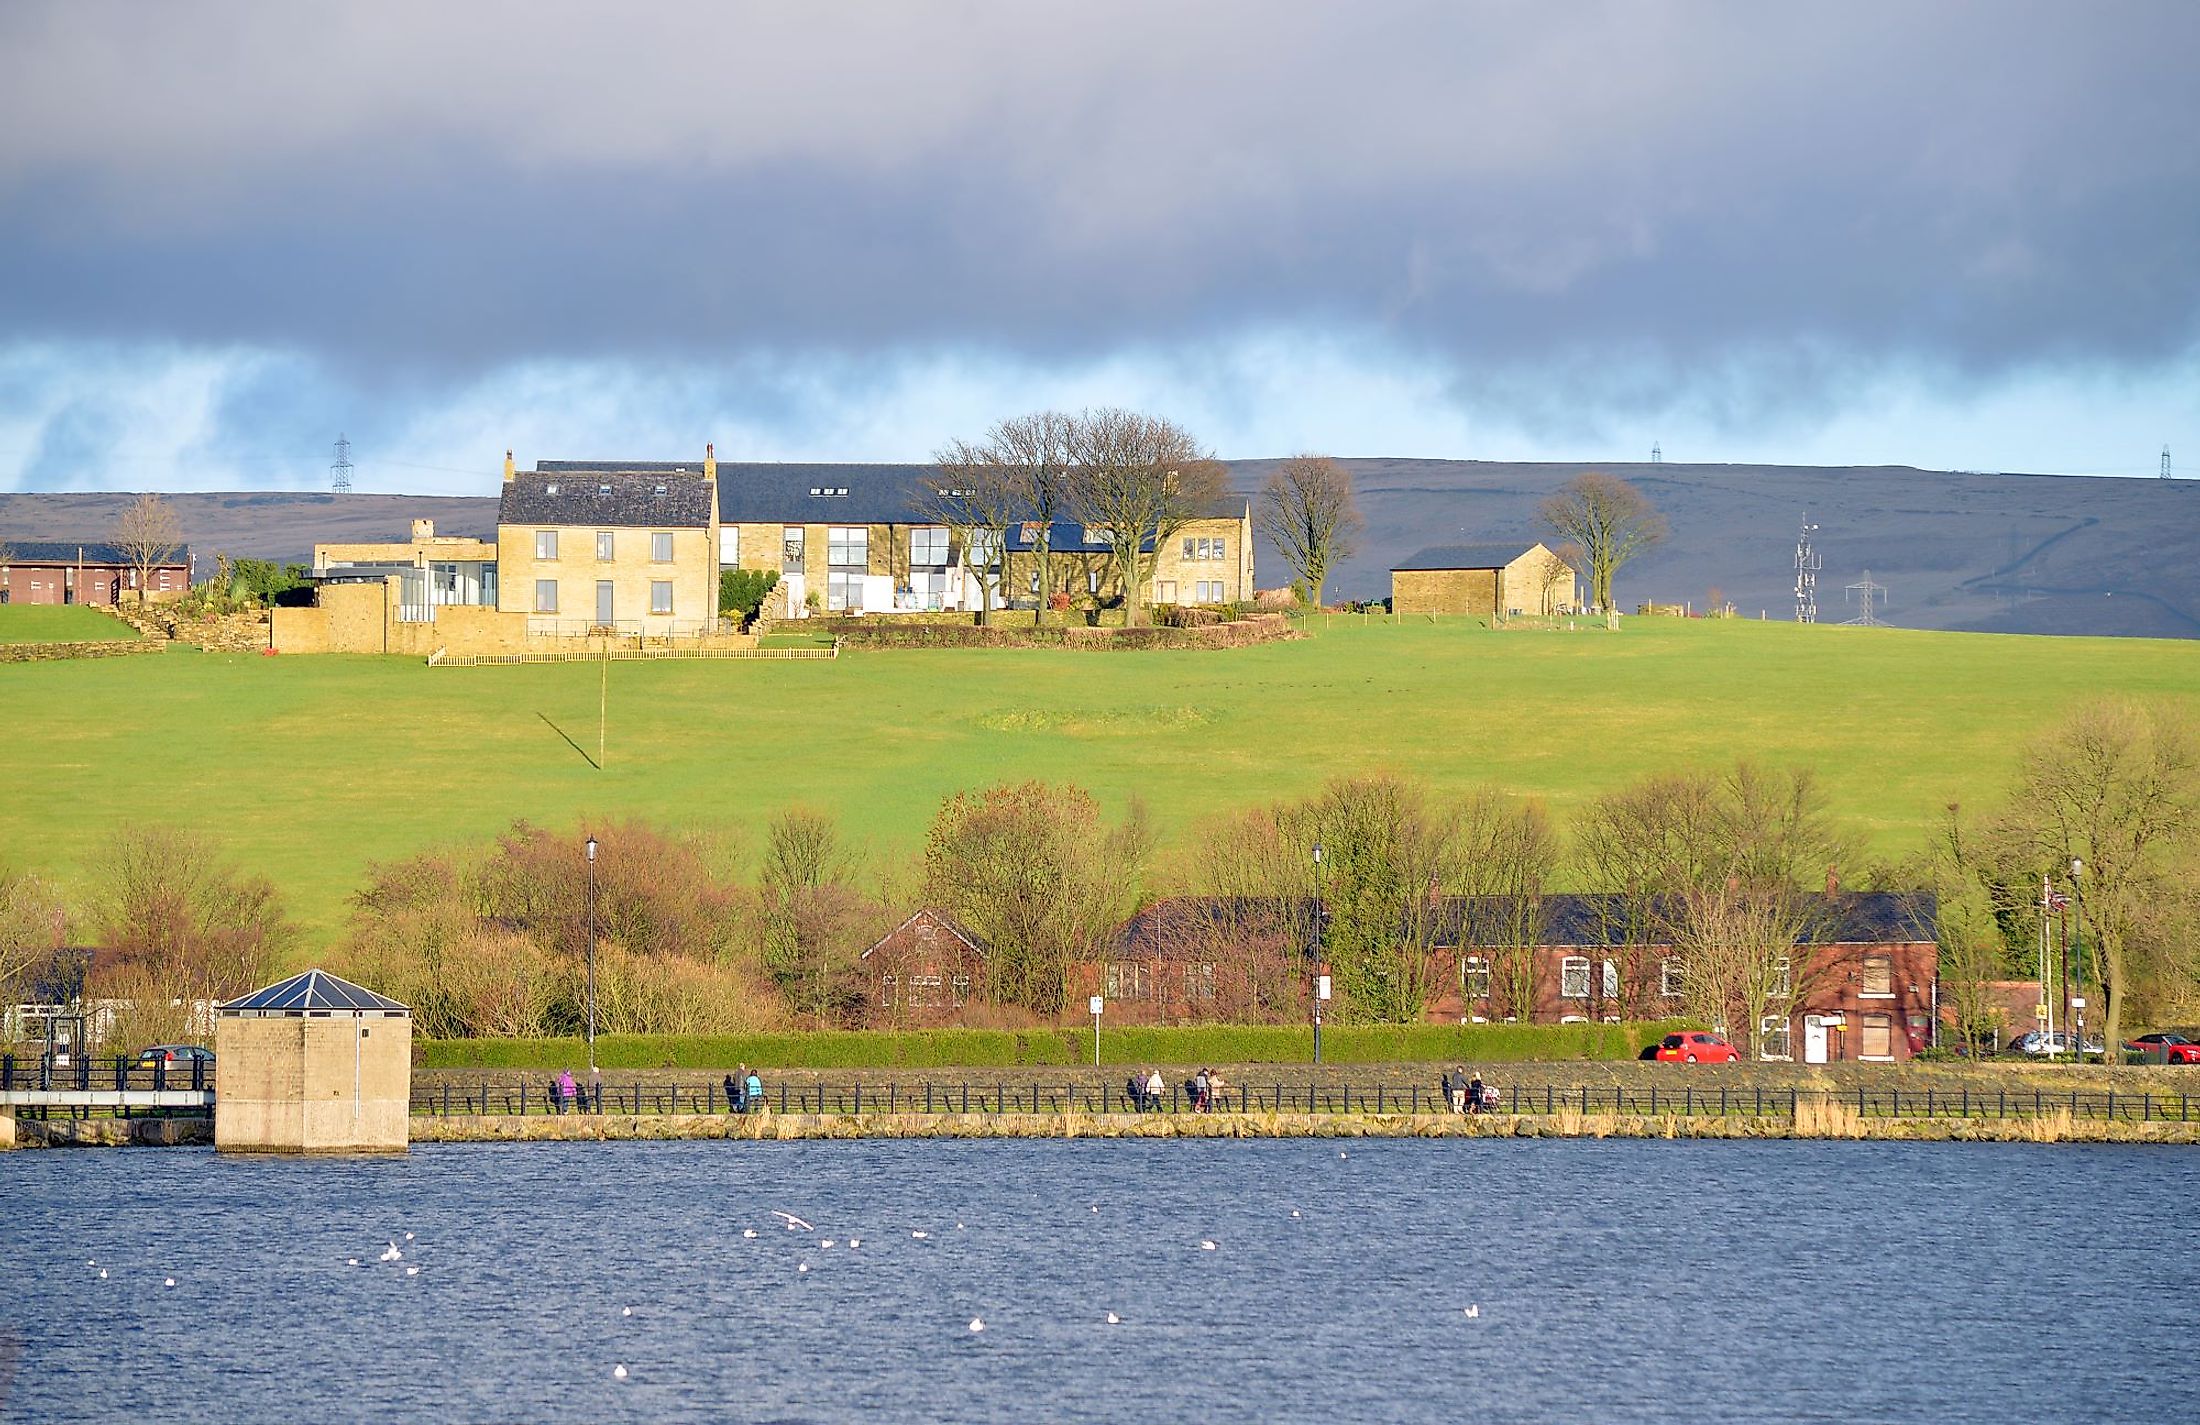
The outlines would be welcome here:
<svg viewBox="0 0 2200 1425">
<path fill-rule="evenodd" d="M 768 570 L 777 618 L 968 614 L 1034 607 L 1038 548 L 1071 596 L 1120 596 L 1111 548 L 1078 523 L 1023 523 L 988 583 L 959 537 L 922 515 L 924 466 L 757 464 L 719 479 L 700 462 L 504 457 L 497 537 L 323 543 L 315 605 L 277 609 L 282 653 L 528 653 L 592 640 L 744 647 L 717 614 L 722 570 Z M 1252 506 L 1232 497 L 1155 548 L 1148 603 L 1250 600 Z"/>
</svg>

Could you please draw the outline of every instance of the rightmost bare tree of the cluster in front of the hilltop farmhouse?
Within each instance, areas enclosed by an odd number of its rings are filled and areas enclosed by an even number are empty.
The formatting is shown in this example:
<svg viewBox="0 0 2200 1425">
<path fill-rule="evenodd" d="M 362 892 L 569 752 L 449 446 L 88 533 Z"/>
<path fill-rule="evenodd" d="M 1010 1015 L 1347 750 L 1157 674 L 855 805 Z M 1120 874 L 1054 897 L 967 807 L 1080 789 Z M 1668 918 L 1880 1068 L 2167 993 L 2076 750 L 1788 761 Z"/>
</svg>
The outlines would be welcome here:
<svg viewBox="0 0 2200 1425">
<path fill-rule="evenodd" d="M 1115 407 L 1085 411 L 1069 449 L 1069 508 L 1107 541 L 1135 627 L 1155 550 L 1221 501 L 1223 468 L 1181 427 Z"/>
</svg>

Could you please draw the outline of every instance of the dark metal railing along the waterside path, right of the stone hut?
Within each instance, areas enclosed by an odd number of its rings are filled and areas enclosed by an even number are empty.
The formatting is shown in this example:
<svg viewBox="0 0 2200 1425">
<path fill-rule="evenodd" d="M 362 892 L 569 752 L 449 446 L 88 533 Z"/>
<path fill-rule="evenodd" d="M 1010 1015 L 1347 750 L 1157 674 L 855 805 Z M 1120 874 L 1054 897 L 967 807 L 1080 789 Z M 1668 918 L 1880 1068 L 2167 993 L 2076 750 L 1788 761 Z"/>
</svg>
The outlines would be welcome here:
<svg viewBox="0 0 2200 1425">
<path fill-rule="evenodd" d="M 416 1084 L 416 1115 L 528 1115 L 623 1113 L 680 1115 L 735 1113 L 722 1080 L 634 1082 L 579 1086 L 559 1100 L 548 1078 L 477 1078 Z M 1487 1113 L 1505 1115 L 1617 1115 L 1617 1117 L 1795 1117 L 1800 1106 L 1837 1106 L 1859 1117 L 1899 1119 L 2031 1119 L 2068 1113 L 2072 1119 L 2200 1122 L 2200 1093 L 2066 1091 L 2046 1089 L 1709 1089 L 1709 1086 L 1498 1086 Z M 1199 1106 L 1188 1084 L 1135 1095 L 1129 1084 L 766 1084 L 750 1111 L 772 1113 L 1450 1113 L 1437 1084 L 1230 1084 Z"/>
</svg>

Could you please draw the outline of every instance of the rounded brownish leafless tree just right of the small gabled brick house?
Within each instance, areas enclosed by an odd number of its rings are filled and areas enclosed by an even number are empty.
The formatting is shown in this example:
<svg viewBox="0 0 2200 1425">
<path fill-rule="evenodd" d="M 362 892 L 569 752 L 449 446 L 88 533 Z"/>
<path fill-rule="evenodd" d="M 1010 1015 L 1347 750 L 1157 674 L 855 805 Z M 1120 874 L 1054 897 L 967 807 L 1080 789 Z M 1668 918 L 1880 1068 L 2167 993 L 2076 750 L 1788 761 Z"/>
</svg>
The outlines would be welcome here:
<svg viewBox="0 0 2200 1425">
<path fill-rule="evenodd" d="M 1151 851 L 1137 803 L 1111 827 L 1082 787 L 999 785 L 939 807 L 924 840 L 924 888 L 986 946 L 994 1001 L 1058 1014 L 1069 963 L 1122 924 Z"/>
</svg>

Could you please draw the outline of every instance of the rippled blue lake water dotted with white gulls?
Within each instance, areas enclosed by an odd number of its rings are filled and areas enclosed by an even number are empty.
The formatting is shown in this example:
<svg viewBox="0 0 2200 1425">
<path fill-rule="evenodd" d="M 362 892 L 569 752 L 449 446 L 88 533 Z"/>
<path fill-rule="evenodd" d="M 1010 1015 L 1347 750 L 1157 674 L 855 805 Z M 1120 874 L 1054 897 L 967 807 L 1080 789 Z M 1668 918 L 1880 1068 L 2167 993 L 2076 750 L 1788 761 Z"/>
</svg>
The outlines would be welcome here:
<svg viewBox="0 0 2200 1425">
<path fill-rule="evenodd" d="M 2167 1418 L 2196 1203 L 2099 1146 L 15 1152 L 0 1418 Z"/>
</svg>

